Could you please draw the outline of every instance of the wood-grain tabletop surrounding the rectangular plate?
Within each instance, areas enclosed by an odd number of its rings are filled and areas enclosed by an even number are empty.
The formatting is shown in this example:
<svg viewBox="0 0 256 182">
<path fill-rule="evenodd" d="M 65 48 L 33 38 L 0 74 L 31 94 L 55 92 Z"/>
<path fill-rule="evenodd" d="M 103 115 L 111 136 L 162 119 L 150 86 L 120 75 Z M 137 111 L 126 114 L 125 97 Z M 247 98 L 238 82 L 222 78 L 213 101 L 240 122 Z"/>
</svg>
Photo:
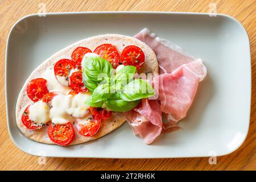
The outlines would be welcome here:
<svg viewBox="0 0 256 182">
<path fill-rule="evenodd" d="M 72 159 L 47 158 L 45 165 L 39 158 L 20 151 L 11 141 L 5 110 L 5 46 L 11 26 L 25 15 L 38 13 L 39 3 L 46 4 L 47 12 L 68 11 L 187 11 L 209 13 L 216 3 L 217 13 L 233 16 L 245 26 L 251 44 L 252 96 L 250 129 L 245 143 L 233 154 L 217 158 L 210 165 L 208 158 L 184 159 Z M 201 1 L 51 1 L 51 0 L 0 0 L 0 169 L 2 170 L 255 170 L 256 169 L 256 60 L 255 12 L 253 0 L 201 0 Z"/>
</svg>

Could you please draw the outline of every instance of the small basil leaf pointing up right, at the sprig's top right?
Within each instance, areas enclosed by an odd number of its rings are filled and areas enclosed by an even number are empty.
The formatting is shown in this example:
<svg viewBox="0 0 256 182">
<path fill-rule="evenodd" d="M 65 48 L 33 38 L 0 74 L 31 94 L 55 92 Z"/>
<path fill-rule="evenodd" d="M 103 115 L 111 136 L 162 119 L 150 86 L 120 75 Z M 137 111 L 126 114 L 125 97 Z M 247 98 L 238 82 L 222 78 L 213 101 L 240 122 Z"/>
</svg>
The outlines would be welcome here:
<svg viewBox="0 0 256 182">
<path fill-rule="evenodd" d="M 122 82 L 123 85 L 126 85 L 129 81 L 133 80 L 136 67 L 127 65 L 121 68 L 115 75 L 116 82 Z"/>
</svg>

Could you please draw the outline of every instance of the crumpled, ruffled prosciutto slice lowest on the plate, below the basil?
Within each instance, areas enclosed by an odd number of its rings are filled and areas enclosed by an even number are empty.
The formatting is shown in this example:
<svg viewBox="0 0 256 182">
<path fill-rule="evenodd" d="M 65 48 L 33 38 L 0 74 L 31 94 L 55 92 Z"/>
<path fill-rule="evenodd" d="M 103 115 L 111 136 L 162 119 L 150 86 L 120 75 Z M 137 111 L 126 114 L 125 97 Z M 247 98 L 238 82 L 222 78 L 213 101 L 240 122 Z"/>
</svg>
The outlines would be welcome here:
<svg viewBox="0 0 256 182">
<path fill-rule="evenodd" d="M 157 100 L 142 99 L 140 107 L 127 111 L 125 117 L 134 131 L 139 134 L 144 143 L 152 143 L 162 131 L 162 112 Z"/>
</svg>

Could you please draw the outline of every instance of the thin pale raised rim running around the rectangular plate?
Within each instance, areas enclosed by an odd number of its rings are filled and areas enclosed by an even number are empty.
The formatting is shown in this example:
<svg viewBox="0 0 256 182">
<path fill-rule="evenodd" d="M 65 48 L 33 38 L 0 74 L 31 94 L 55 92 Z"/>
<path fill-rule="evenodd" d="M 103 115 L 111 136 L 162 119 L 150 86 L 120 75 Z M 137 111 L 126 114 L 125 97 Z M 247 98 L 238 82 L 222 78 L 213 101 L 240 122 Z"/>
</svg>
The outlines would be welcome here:
<svg viewBox="0 0 256 182">
<path fill-rule="evenodd" d="M 34 16 L 39 16 L 41 13 L 34 13 L 34 14 L 28 14 L 23 16 L 22 18 L 19 18 L 18 20 L 16 20 L 16 22 L 13 24 L 13 26 L 11 27 L 9 34 L 7 36 L 7 40 L 6 40 L 6 53 L 5 53 L 5 101 L 6 101 L 6 120 L 7 120 L 7 129 L 8 129 L 8 133 L 9 136 L 11 138 L 11 140 L 13 141 L 14 145 L 16 147 L 18 147 L 21 151 L 25 152 L 26 154 L 30 154 L 33 156 L 40 156 L 38 154 L 34 154 L 33 152 L 29 152 L 24 150 L 24 148 L 22 148 L 22 146 L 20 146 L 18 143 L 16 143 L 16 140 L 13 137 L 13 134 L 11 133 L 11 129 L 10 129 L 10 119 L 9 119 L 9 104 L 7 102 L 7 97 L 8 97 L 8 93 L 7 93 L 7 64 L 8 64 L 8 56 L 7 56 L 7 52 L 9 49 L 9 39 L 11 37 L 11 34 L 14 30 L 14 28 L 16 27 L 17 24 L 19 24 L 22 20 L 27 19 L 27 18 L 31 18 Z M 193 12 L 172 12 L 172 11 L 73 11 L 73 12 L 62 12 L 62 13 L 57 13 L 57 12 L 49 12 L 49 13 L 45 13 L 45 15 L 47 16 L 54 16 L 54 15 L 76 15 L 76 14 L 85 14 L 85 15 L 89 15 L 89 14 L 168 14 L 168 15 L 210 15 L 211 13 L 193 13 Z M 215 14 L 214 14 L 215 15 Z M 224 152 L 223 154 L 217 154 L 216 156 L 224 156 L 224 155 L 228 155 L 228 154 L 232 154 L 234 151 L 238 150 L 238 148 L 240 148 L 242 146 L 242 144 L 245 142 L 247 135 L 249 133 L 249 127 L 250 127 L 250 113 L 251 113 L 251 51 L 250 51 L 250 39 L 249 39 L 249 34 L 246 31 L 246 28 L 242 25 L 241 22 L 239 22 L 236 18 L 234 18 L 233 16 L 227 15 L 227 14 L 219 14 L 216 13 L 216 16 L 222 16 L 224 18 L 228 18 L 230 20 L 233 20 L 234 23 L 237 23 L 240 28 L 242 28 L 242 31 L 245 32 L 246 34 L 246 39 L 247 39 L 247 43 L 249 45 L 249 72 L 247 74 L 249 74 L 249 78 L 250 78 L 250 84 L 249 84 L 249 90 L 250 93 L 249 94 L 249 111 L 248 111 L 248 115 L 246 118 L 246 126 L 247 126 L 247 130 L 246 130 L 246 135 L 244 136 L 244 138 L 241 140 L 240 144 L 238 144 L 236 147 L 233 148 L 233 150 L 229 150 Z M 204 155 L 204 156 L 176 156 L 176 157 L 170 157 L 170 156 L 164 156 L 164 157 L 158 157 L 158 156 L 151 156 L 151 157 L 146 157 L 146 158 L 141 158 L 141 157 L 135 157 L 135 158 L 129 158 L 127 157 L 122 157 L 122 158 L 118 158 L 118 159 L 158 159 L 158 158 L 200 158 L 200 157 L 209 157 L 210 155 Z M 56 156 L 56 155 L 47 155 L 47 157 L 55 157 L 55 158 L 113 158 L 113 157 L 97 157 L 97 156 Z"/>
</svg>

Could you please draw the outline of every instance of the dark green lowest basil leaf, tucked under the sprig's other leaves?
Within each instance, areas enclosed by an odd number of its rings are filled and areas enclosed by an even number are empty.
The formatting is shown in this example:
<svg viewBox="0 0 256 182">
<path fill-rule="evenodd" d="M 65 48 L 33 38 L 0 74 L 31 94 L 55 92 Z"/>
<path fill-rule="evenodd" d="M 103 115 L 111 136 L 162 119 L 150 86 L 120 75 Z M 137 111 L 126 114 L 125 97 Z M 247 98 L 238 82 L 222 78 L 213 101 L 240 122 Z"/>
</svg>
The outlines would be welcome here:
<svg viewBox="0 0 256 182">
<path fill-rule="evenodd" d="M 141 100 L 125 101 L 121 99 L 121 100 L 108 100 L 108 101 L 105 101 L 104 103 L 112 111 L 125 112 L 131 109 L 134 109 L 134 107 L 136 107 L 139 104 L 139 102 L 141 102 Z"/>
</svg>

